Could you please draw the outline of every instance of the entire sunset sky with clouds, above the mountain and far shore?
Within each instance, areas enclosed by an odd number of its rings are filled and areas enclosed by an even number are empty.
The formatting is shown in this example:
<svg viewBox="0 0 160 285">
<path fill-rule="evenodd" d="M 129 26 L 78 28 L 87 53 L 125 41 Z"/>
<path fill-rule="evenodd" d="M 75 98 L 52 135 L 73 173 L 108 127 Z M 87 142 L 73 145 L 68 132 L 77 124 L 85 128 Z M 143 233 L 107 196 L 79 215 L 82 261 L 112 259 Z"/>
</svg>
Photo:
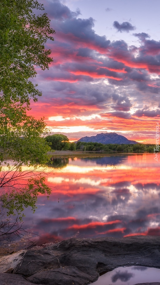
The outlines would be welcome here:
<svg viewBox="0 0 160 285">
<path fill-rule="evenodd" d="M 31 114 L 70 141 L 116 132 L 156 144 L 160 124 L 159 0 L 41 0 L 56 31 Z"/>
</svg>

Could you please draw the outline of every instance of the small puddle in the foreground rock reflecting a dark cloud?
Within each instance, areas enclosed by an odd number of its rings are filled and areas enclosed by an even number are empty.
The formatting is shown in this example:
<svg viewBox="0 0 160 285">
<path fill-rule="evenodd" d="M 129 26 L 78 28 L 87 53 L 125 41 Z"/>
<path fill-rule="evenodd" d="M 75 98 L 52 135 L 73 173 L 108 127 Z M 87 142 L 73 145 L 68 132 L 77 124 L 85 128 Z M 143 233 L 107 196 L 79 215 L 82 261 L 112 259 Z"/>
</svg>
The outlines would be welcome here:
<svg viewBox="0 0 160 285">
<path fill-rule="evenodd" d="M 99 277 L 93 285 L 134 285 L 136 283 L 160 282 L 160 269 L 144 266 L 118 267 Z"/>
</svg>

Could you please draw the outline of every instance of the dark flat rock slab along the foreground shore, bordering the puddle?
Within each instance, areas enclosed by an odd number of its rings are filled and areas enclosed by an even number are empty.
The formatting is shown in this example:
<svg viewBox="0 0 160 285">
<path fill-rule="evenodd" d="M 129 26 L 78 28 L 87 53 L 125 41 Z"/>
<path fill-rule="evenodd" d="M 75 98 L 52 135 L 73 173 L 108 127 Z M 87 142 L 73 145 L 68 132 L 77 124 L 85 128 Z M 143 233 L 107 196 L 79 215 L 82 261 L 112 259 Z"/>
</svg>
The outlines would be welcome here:
<svg viewBox="0 0 160 285">
<path fill-rule="evenodd" d="M 25 253 L 14 276 L 21 274 L 32 285 L 87 285 L 100 272 L 132 265 L 160 268 L 158 236 L 68 239 L 40 250 L 33 248 Z"/>
</svg>

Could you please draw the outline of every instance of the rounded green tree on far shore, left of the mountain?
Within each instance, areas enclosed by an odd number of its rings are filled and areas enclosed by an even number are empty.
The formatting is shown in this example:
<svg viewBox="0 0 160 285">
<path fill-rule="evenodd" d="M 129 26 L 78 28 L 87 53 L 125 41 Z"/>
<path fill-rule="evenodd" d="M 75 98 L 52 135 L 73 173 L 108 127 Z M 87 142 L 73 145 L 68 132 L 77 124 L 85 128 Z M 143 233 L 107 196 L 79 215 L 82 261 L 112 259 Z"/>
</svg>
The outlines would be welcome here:
<svg viewBox="0 0 160 285">
<path fill-rule="evenodd" d="M 49 135 L 45 140 L 51 143 L 51 148 L 54 150 L 68 150 L 70 147 L 69 139 L 63 134 Z"/>
</svg>

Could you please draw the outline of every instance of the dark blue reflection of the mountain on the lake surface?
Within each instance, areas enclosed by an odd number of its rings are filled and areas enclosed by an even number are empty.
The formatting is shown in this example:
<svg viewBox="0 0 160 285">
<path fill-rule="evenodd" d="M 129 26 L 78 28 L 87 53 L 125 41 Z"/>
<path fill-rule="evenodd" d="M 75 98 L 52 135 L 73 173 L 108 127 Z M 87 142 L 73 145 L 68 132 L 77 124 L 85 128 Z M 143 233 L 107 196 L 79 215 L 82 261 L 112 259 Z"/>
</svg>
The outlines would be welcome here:
<svg viewBox="0 0 160 285">
<path fill-rule="evenodd" d="M 96 158 L 82 158 L 82 160 L 89 161 L 92 160 L 96 164 L 100 165 L 116 165 L 123 164 L 127 160 L 127 155 L 118 156 L 107 156 L 107 157 L 96 157 Z"/>
</svg>

